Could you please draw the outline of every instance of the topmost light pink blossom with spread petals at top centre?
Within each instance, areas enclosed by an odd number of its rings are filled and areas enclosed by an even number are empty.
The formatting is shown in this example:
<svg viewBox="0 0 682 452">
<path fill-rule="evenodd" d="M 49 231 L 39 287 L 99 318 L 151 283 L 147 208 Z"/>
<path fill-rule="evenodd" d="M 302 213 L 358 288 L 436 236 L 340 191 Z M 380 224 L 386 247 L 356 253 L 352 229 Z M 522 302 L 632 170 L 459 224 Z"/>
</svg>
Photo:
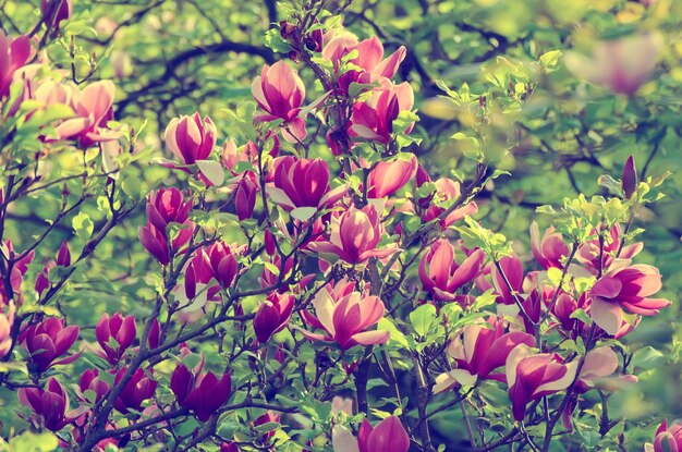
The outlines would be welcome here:
<svg viewBox="0 0 682 452">
<path fill-rule="evenodd" d="M 376 36 L 358 41 L 357 37 L 351 33 L 336 35 L 329 33 L 325 36 L 325 41 L 322 58 L 332 62 L 341 94 L 348 94 L 351 83 L 387 84 L 395 75 L 407 53 L 406 49 L 401 46 L 395 52 L 383 58 L 383 45 Z M 339 74 L 342 60 L 351 52 L 357 53 L 356 57 L 348 60 L 355 68 Z"/>
</svg>

